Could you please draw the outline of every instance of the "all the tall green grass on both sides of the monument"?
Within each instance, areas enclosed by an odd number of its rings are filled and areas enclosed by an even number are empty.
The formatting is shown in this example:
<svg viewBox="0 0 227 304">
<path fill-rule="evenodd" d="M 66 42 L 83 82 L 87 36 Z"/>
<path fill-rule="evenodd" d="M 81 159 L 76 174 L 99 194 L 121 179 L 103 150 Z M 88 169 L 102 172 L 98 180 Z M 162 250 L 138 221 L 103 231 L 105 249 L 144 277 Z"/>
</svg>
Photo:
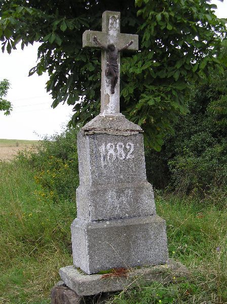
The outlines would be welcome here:
<svg viewBox="0 0 227 304">
<path fill-rule="evenodd" d="M 0 171 L 0 303 L 50 303 L 59 268 L 72 263 L 75 202 L 42 196 L 37 172 L 18 161 L 0 162 Z M 109 302 L 227 303 L 226 205 L 224 196 L 215 205 L 210 198 L 156 193 L 157 213 L 167 222 L 169 255 L 187 265 L 192 277 L 124 290 Z"/>
</svg>

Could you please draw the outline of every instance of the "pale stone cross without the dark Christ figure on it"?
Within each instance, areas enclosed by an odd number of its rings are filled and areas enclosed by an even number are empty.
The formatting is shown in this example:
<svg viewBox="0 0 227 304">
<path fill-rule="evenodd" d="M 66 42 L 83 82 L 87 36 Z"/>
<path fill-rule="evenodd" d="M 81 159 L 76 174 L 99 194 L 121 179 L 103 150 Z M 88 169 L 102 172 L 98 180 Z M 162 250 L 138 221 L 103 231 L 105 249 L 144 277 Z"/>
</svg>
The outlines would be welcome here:
<svg viewBox="0 0 227 304">
<path fill-rule="evenodd" d="M 113 44 L 117 50 L 126 49 L 129 51 L 138 50 L 138 35 L 120 33 L 120 13 L 105 11 L 102 15 L 102 31 L 86 30 L 83 34 L 83 47 L 100 48 L 98 42 L 107 48 Z M 132 44 L 130 42 L 133 41 Z M 102 48 L 102 73 L 101 73 L 101 116 L 116 116 L 120 113 L 120 52 L 118 52 L 118 82 L 115 93 L 111 92 L 111 81 L 106 75 L 107 52 Z"/>
</svg>

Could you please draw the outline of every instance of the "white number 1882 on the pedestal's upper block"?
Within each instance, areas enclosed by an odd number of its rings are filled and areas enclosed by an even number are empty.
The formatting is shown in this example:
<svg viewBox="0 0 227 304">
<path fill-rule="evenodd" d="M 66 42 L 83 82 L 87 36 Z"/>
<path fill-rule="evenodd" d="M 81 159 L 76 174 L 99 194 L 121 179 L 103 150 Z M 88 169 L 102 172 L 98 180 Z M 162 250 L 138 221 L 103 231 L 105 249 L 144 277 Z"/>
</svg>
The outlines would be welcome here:
<svg viewBox="0 0 227 304">
<path fill-rule="evenodd" d="M 116 145 L 112 142 L 109 142 L 105 145 L 103 143 L 99 147 L 101 153 L 101 162 L 102 165 L 106 165 L 108 163 L 114 162 L 116 159 L 119 160 L 128 160 L 133 159 L 134 155 L 132 154 L 134 151 L 134 144 L 129 141 L 124 145 L 123 142 L 118 142 Z"/>
</svg>

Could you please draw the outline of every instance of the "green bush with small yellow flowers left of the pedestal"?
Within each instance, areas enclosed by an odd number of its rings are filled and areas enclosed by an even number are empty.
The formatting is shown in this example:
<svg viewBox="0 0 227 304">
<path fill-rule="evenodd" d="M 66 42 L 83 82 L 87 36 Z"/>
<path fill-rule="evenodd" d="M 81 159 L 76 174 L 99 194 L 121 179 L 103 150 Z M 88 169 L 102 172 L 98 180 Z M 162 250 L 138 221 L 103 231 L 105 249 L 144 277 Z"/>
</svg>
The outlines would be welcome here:
<svg viewBox="0 0 227 304">
<path fill-rule="evenodd" d="M 79 185 L 77 131 L 67 129 L 46 137 L 33 151 L 22 151 L 18 159 L 34 168 L 34 179 L 43 187 L 37 195 L 54 201 L 75 200 Z"/>
</svg>

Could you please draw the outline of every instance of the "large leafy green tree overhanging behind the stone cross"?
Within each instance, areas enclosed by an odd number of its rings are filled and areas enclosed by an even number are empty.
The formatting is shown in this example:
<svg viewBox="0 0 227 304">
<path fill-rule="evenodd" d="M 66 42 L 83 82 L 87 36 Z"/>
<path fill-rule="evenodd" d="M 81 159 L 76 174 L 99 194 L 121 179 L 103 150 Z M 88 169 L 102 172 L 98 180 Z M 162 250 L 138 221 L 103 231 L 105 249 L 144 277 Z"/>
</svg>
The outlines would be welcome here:
<svg viewBox="0 0 227 304">
<path fill-rule="evenodd" d="M 177 113 L 187 111 L 188 84 L 221 72 L 216 54 L 226 27 L 214 8 L 205 0 L 5 0 L 2 50 L 40 42 L 30 75 L 48 71 L 52 106 L 74 104 L 71 124 L 85 124 L 99 113 L 101 65 L 99 51 L 82 49 L 82 34 L 101 30 L 103 11 L 121 11 L 121 32 L 137 33 L 140 46 L 122 59 L 121 110 L 159 150 Z"/>
</svg>

